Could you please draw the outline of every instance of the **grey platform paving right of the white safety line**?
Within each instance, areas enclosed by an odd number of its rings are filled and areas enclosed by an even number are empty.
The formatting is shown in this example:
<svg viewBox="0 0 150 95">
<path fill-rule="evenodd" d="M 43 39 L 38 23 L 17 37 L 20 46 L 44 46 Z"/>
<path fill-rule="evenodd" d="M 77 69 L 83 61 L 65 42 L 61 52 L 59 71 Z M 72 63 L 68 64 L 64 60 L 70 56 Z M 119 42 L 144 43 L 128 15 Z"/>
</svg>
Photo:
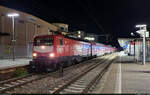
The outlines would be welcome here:
<svg viewBox="0 0 150 95">
<path fill-rule="evenodd" d="M 121 64 L 122 93 L 150 93 L 150 63 Z"/>
</svg>

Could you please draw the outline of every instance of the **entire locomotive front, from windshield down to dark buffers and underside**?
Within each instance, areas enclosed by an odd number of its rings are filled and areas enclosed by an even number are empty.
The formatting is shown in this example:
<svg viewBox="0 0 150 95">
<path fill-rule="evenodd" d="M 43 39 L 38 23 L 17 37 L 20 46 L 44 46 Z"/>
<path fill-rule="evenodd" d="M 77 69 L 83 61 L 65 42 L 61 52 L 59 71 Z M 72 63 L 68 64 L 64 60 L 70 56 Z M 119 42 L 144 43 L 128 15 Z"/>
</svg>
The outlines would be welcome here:
<svg viewBox="0 0 150 95">
<path fill-rule="evenodd" d="M 50 71 L 55 67 L 54 37 L 37 36 L 33 43 L 33 60 L 30 61 L 32 70 Z"/>
</svg>

